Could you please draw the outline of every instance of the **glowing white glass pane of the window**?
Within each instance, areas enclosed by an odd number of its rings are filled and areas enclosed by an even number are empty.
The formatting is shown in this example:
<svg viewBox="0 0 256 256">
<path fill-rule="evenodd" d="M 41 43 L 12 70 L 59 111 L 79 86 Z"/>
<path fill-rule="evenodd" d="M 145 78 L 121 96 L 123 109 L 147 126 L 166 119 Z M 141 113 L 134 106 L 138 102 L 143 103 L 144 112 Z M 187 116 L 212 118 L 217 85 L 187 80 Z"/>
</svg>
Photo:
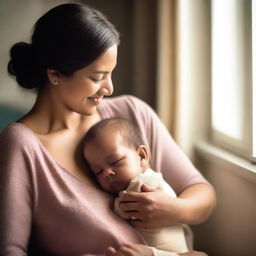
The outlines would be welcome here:
<svg viewBox="0 0 256 256">
<path fill-rule="evenodd" d="M 239 140 L 244 112 L 240 4 L 241 0 L 212 1 L 212 126 Z"/>
</svg>

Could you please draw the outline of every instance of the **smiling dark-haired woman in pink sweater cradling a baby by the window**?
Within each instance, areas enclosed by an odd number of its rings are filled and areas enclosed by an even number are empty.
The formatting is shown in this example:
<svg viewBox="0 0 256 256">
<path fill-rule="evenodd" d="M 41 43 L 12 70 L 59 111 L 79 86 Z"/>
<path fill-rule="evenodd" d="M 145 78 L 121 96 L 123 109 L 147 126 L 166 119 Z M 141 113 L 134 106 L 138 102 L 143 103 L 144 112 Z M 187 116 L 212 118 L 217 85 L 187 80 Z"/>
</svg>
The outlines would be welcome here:
<svg viewBox="0 0 256 256">
<path fill-rule="evenodd" d="M 152 255 L 113 213 L 112 196 L 97 187 L 82 157 L 86 131 L 111 116 L 139 127 L 152 150 L 150 164 L 179 195 L 171 200 L 150 188 L 124 194 L 123 210 L 140 218 L 133 224 L 196 224 L 210 215 L 212 187 L 151 108 L 131 96 L 103 100 L 113 92 L 118 44 L 118 32 L 100 12 L 63 4 L 37 21 L 30 44 L 11 48 L 9 72 L 37 99 L 0 137 L 0 255 Z"/>
</svg>

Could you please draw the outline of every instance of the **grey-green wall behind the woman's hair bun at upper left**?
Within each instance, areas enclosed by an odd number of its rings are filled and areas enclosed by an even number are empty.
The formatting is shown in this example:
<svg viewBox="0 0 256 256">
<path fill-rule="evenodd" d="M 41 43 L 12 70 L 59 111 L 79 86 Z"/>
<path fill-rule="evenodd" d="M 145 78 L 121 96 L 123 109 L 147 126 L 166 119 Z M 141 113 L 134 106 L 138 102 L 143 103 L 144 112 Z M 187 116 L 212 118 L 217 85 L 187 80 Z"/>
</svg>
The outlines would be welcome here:
<svg viewBox="0 0 256 256">
<path fill-rule="evenodd" d="M 20 89 L 7 74 L 10 47 L 20 41 L 28 41 L 33 24 L 46 10 L 68 1 L 1 0 L 0 1 L 0 104 L 27 110 L 35 96 Z"/>
</svg>

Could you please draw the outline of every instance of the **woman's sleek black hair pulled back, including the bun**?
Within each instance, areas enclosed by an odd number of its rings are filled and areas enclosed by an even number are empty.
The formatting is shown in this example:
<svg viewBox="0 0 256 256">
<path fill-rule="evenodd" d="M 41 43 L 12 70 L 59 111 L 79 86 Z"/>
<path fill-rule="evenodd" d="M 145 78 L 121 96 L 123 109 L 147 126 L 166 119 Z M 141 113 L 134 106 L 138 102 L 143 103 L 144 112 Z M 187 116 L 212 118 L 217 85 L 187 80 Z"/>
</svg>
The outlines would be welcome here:
<svg viewBox="0 0 256 256">
<path fill-rule="evenodd" d="M 36 22 L 31 44 L 12 46 L 8 72 L 21 87 L 40 90 L 48 82 L 48 68 L 71 76 L 114 44 L 119 34 L 102 13 L 83 4 L 62 4 Z"/>
</svg>

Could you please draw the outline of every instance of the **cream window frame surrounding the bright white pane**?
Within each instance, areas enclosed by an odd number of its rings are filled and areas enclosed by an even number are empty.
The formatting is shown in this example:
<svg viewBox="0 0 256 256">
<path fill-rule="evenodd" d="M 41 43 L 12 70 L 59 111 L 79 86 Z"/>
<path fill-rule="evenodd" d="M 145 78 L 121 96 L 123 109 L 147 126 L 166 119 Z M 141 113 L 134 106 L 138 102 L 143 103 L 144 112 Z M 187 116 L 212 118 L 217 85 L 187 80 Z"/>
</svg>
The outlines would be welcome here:
<svg viewBox="0 0 256 256">
<path fill-rule="evenodd" d="M 213 14 L 213 3 L 214 0 L 211 1 L 211 15 Z M 242 134 L 242 140 L 235 139 L 231 136 L 228 136 L 213 127 L 213 115 L 212 115 L 212 108 L 213 108 L 213 101 L 211 101 L 211 123 L 210 123 L 210 140 L 211 142 L 218 146 L 221 147 L 225 150 L 228 150 L 229 152 L 232 152 L 236 155 L 242 156 L 243 158 L 246 158 L 250 160 L 251 162 L 256 162 L 256 149 L 254 149 L 254 156 L 253 156 L 253 140 L 255 140 L 256 137 L 256 130 L 255 130 L 255 125 L 256 125 L 256 114 L 255 114 L 255 109 L 256 109 L 256 89 L 255 89 L 255 66 L 253 65 L 255 63 L 255 43 L 253 43 L 253 40 L 255 40 L 255 1 L 250 0 L 250 1 L 241 1 L 240 4 L 246 3 L 245 8 L 250 8 L 249 12 L 251 13 L 251 16 L 243 16 L 243 20 L 241 22 L 246 22 L 248 25 L 248 30 L 246 31 L 247 33 L 247 38 L 248 38 L 248 47 L 245 47 L 246 52 L 244 53 L 247 58 L 247 67 L 246 67 L 246 81 L 247 84 L 244 87 L 244 102 L 247 104 L 243 107 L 243 134 Z M 254 7 L 254 8 L 253 8 Z M 248 10 L 247 10 L 248 11 Z M 213 28 L 213 15 L 211 18 L 211 29 Z M 247 26 L 246 26 L 247 28 Z M 211 31 L 211 34 L 213 32 Z M 213 63 L 213 41 L 211 40 L 211 62 Z M 212 65 L 213 66 L 213 65 Z M 213 67 L 212 67 L 213 68 Z M 211 68 L 211 72 L 212 72 Z M 242 72 L 242 71 L 241 71 Z M 245 76 L 245 74 L 242 74 Z M 213 77 L 211 78 L 211 90 L 213 90 Z M 254 87 L 254 89 L 253 89 Z M 253 101 L 253 99 L 255 99 Z M 254 111 L 253 111 L 254 109 Z M 248 113 L 248 114 L 246 114 Z M 254 134 L 253 134 L 254 133 Z M 254 143 L 255 144 L 255 143 Z"/>
</svg>

